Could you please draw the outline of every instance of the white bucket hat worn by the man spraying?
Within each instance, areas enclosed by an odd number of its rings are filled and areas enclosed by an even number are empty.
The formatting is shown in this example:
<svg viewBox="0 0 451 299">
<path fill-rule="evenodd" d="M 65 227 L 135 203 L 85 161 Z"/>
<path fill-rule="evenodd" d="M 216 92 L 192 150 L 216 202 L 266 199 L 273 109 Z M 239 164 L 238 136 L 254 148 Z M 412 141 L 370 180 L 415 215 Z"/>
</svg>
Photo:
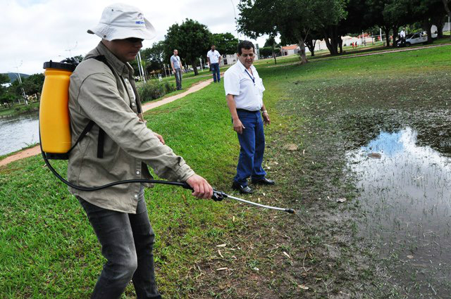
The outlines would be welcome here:
<svg viewBox="0 0 451 299">
<path fill-rule="evenodd" d="M 155 28 L 144 18 L 139 8 L 127 4 L 111 4 L 104 8 L 101 19 L 96 27 L 87 30 L 87 33 L 96 34 L 102 39 L 153 39 Z"/>
</svg>

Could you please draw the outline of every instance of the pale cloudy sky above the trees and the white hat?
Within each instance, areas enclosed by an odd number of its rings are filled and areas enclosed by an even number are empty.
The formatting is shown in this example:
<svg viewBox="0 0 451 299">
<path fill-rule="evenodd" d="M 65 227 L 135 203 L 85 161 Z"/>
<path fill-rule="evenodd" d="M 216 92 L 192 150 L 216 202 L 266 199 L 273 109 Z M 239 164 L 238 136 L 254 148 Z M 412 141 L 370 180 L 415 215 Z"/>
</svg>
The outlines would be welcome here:
<svg viewBox="0 0 451 299">
<path fill-rule="evenodd" d="M 164 39 L 168 27 L 192 18 L 213 33 L 236 36 L 239 0 L 128 0 L 154 25 L 157 36 L 143 48 Z M 0 0 L 0 73 L 42 72 L 42 63 L 85 55 L 99 42 L 86 30 L 99 22 L 104 7 L 118 0 Z M 124 1 L 125 2 L 125 1 Z M 233 4 L 232 4 L 233 3 Z M 242 38 L 242 36 L 241 36 Z M 264 37 L 257 40 L 263 46 Z M 208 49 L 206 49 L 208 51 Z M 16 68 L 18 67 L 18 68 Z"/>
</svg>

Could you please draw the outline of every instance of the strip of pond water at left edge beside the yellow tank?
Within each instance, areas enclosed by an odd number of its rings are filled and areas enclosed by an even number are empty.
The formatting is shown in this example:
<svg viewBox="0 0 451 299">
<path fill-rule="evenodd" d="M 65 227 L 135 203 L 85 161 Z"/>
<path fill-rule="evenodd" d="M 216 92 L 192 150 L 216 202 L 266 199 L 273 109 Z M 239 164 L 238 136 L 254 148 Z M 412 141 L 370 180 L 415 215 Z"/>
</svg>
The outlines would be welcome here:
<svg viewBox="0 0 451 299">
<path fill-rule="evenodd" d="M 39 141 L 37 113 L 0 118 L 0 155 Z"/>
</svg>

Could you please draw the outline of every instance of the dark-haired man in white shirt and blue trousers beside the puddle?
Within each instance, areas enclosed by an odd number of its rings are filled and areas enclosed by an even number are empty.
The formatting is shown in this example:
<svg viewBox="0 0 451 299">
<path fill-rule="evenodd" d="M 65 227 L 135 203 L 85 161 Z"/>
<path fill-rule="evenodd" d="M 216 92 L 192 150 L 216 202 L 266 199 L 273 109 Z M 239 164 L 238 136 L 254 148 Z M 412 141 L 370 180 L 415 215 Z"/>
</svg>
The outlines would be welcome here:
<svg viewBox="0 0 451 299">
<path fill-rule="evenodd" d="M 271 120 L 263 103 L 263 81 L 252 65 L 254 58 L 254 44 L 249 41 L 240 42 L 238 61 L 224 74 L 227 105 L 241 146 L 232 188 L 240 193 L 254 192 L 247 186 L 249 177 L 252 184 L 275 184 L 266 179 L 266 172 L 261 167 L 265 148 L 263 125 L 269 125 Z"/>
</svg>

